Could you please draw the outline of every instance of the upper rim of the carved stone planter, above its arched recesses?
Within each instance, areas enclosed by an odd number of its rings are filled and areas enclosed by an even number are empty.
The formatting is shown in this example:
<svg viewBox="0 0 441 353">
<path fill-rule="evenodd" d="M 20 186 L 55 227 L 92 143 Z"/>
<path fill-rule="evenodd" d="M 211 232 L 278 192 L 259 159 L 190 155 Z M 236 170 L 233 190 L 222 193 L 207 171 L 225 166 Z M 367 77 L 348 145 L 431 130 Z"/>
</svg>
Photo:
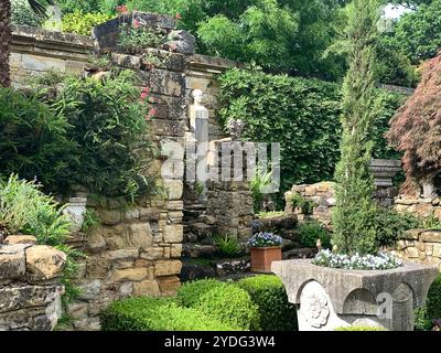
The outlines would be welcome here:
<svg viewBox="0 0 441 353">
<path fill-rule="evenodd" d="M 346 270 L 316 266 L 310 259 L 276 261 L 272 271 L 281 278 L 290 302 L 299 304 L 303 287 L 315 280 L 326 289 L 340 314 L 346 313 L 346 302 L 354 291 L 367 291 L 375 301 L 379 293 L 392 293 L 401 284 L 411 289 L 413 307 L 419 308 L 438 276 L 437 266 L 406 263 L 390 270 Z"/>
</svg>

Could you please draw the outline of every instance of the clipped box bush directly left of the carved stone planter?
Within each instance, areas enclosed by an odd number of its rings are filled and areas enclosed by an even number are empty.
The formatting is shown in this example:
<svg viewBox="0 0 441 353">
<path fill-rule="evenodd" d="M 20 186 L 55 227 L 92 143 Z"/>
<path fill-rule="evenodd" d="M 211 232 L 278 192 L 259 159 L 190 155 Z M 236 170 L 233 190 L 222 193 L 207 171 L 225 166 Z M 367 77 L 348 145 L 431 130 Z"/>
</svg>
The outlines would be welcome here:
<svg viewBox="0 0 441 353">
<path fill-rule="evenodd" d="M 256 276 L 237 282 L 259 308 L 263 331 L 294 331 L 297 309 L 288 301 L 282 281 L 276 276 Z"/>
</svg>

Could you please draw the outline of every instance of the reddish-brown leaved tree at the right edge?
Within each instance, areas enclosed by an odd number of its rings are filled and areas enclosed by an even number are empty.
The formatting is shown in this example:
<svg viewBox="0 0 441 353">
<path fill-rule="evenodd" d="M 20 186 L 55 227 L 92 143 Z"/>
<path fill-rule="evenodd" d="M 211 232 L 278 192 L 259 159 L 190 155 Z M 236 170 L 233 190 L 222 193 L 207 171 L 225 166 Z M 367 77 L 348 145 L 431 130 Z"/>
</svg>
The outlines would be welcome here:
<svg viewBox="0 0 441 353">
<path fill-rule="evenodd" d="M 406 172 L 405 194 L 419 194 L 441 172 L 441 53 L 426 62 L 415 94 L 390 120 L 386 133 L 399 151 Z M 438 178 L 437 178 L 438 179 Z"/>
</svg>

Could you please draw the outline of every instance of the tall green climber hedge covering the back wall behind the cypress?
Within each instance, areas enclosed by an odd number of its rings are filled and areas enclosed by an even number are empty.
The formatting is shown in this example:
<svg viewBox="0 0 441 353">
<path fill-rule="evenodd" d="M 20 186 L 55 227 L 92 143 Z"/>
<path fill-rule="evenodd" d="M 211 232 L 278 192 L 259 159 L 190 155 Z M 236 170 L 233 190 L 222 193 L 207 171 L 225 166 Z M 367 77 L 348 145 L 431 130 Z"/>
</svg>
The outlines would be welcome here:
<svg viewBox="0 0 441 353">
<path fill-rule="evenodd" d="M 341 86 L 319 79 L 230 69 L 219 76 L 220 119 L 245 122 L 244 140 L 281 143 L 281 191 L 333 180 L 340 158 Z M 402 96 L 378 89 L 374 158 L 399 158 L 384 138 Z"/>
</svg>

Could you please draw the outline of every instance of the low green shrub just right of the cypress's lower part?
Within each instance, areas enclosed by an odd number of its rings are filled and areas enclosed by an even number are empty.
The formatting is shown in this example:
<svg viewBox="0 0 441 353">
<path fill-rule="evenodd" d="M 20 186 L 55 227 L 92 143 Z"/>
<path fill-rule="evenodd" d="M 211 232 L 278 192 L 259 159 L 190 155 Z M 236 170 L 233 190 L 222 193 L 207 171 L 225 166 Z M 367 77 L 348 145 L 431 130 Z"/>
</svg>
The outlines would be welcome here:
<svg viewBox="0 0 441 353">
<path fill-rule="evenodd" d="M 408 213 L 379 207 L 376 215 L 376 242 L 378 246 L 394 246 L 405 231 L 419 228 L 421 221 Z"/>
</svg>

